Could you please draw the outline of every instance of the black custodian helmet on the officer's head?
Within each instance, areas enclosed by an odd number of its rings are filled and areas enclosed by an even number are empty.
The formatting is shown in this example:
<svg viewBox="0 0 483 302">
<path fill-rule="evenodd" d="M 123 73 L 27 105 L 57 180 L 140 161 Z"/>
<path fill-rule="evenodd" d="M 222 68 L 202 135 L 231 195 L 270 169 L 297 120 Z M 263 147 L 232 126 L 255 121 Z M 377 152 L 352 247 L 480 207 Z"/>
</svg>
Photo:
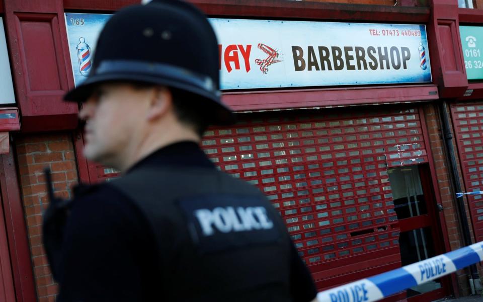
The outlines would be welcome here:
<svg viewBox="0 0 483 302">
<path fill-rule="evenodd" d="M 83 102 L 97 84 L 140 82 L 192 94 L 190 102 L 212 124 L 230 124 L 233 114 L 221 103 L 218 42 L 206 16 L 179 0 L 153 0 L 115 13 L 99 35 L 87 79 L 68 92 Z"/>
</svg>

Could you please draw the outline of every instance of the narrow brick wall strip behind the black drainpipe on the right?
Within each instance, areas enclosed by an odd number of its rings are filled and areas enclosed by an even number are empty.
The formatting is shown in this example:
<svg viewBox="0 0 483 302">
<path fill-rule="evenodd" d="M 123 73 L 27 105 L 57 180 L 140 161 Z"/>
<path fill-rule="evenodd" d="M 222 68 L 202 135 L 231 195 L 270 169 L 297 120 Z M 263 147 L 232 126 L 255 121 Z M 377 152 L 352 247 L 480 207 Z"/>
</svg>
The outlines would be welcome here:
<svg viewBox="0 0 483 302">
<path fill-rule="evenodd" d="M 440 196 L 440 202 L 444 207 L 444 219 L 446 222 L 446 230 L 448 234 L 448 241 L 450 250 L 456 250 L 464 246 L 462 231 L 460 228 L 458 209 L 453 198 L 455 192 L 451 184 L 450 179 L 450 167 L 449 161 L 447 160 L 446 149 L 444 146 L 444 141 L 442 139 L 442 125 L 440 124 L 438 108 L 436 104 L 428 104 L 424 106 L 424 113 L 426 118 L 426 124 L 428 127 L 429 139 L 431 143 L 431 152 L 433 154 L 433 160 L 436 170 L 436 179 L 438 181 L 439 192 L 436 190 L 436 194 Z M 448 112 L 448 116 L 449 112 Z M 451 122 L 451 121 L 450 121 Z M 450 125 L 451 126 L 451 125 Z M 451 128 L 452 129 L 452 128 Z M 455 157 L 458 159 L 457 148 L 455 145 L 455 140 L 453 138 L 453 148 L 455 151 Z M 457 162 L 457 169 L 459 173 L 460 185 L 464 187 L 461 169 L 459 167 L 459 162 Z M 466 204 L 467 205 L 467 204 Z M 466 207 L 466 215 L 469 220 L 469 209 Z M 470 229 L 472 229 L 470 225 Z M 474 242 L 474 237 L 471 232 L 471 237 Z M 470 293 L 470 287 L 468 283 L 469 270 L 462 269 L 456 272 L 456 281 L 458 283 L 460 295 L 468 295 Z"/>
</svg>

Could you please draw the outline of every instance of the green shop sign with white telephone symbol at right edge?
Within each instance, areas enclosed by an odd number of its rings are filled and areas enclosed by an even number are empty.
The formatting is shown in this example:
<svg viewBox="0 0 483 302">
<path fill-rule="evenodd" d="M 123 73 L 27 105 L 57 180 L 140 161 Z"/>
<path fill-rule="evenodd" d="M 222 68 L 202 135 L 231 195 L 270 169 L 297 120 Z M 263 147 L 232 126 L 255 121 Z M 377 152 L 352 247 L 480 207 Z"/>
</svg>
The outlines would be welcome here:
<svg viewBox="0 0 483 302">
<path fill-rule="evenodd" d="M 483 27 L 460 26 L 459 34 L 468 80 L 483 80 Z"/>
</svg>

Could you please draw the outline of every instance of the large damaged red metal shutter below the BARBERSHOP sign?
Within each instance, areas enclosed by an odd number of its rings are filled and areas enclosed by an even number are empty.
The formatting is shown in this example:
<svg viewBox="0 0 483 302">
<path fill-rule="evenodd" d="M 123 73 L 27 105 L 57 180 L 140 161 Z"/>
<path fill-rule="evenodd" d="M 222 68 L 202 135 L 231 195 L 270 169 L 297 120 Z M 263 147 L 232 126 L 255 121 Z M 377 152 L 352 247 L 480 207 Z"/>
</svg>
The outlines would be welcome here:
<svg viewBox="0 0 483 302">
<path fill-rule="evenodd" d="M 202 147 L 272 201 L 319 288 L 400 266 L 387 168 L 428 161 L 418 111 L 296 113 L 247 114 Z"/>
</svg>

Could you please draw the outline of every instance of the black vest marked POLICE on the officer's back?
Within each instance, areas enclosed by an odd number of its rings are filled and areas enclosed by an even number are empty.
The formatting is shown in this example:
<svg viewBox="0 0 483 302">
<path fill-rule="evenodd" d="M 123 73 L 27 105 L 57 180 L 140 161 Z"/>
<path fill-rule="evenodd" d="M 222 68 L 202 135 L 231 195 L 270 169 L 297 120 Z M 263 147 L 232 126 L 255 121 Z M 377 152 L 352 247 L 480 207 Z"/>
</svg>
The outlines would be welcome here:
<svg viewBox="0 0 483 302">
<path fill-rule="evenodd" d="M 292 243 L 255 187 L 215 169 L 174 167 L 135 170 L 111 184 L 152 228 L 159 300 L 292 300 Z"/>
</svg>

